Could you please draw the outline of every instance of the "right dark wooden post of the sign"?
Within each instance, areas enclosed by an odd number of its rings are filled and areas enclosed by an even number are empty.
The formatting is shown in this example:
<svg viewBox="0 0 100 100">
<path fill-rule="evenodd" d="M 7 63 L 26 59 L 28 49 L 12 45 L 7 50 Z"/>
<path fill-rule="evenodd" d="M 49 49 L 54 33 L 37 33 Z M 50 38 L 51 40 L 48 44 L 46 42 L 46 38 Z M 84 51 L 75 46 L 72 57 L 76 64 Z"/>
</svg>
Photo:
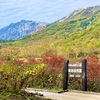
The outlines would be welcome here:
<svg viewBox="0 0 100 100">
<path fill-rule="evenodd" d="M 82 91 L 87 91 L 87 60 L 82 60 Z"/>
</svg>

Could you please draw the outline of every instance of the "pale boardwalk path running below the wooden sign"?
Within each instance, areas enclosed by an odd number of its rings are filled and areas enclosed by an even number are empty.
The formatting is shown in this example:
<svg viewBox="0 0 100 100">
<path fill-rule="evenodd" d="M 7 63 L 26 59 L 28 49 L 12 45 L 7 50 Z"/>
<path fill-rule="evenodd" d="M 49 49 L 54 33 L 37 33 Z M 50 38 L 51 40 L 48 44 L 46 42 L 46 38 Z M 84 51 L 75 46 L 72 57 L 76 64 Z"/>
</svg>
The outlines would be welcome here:
<svg viewBox="0 0 100 100">
<path fill-rule="evenodd" d="M 100 93 L 89 93 L 89 92 L 64 92 L 64 93 L 54 93 L 47 90 L 34 90 L 26 89 L 28 92 L 38 92 L 43 94 L 44 98 L 50 98 L 53 100 L 100 100 Z"/>
</svg>

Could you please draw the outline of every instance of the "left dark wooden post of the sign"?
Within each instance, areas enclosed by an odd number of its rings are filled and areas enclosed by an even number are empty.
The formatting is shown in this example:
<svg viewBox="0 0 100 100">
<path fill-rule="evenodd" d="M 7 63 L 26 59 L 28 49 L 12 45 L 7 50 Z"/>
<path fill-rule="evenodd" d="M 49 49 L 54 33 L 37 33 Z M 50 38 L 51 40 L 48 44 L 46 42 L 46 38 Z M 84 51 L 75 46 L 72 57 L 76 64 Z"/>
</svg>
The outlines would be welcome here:
<svg viewBox="0 0 100 100">
<path fill-rule="evenodd" d="M 68 64 L 69 60 L 64 62 L 64 68 L 63 68 L 63 90 L 68 89 Z"/>
</svg>

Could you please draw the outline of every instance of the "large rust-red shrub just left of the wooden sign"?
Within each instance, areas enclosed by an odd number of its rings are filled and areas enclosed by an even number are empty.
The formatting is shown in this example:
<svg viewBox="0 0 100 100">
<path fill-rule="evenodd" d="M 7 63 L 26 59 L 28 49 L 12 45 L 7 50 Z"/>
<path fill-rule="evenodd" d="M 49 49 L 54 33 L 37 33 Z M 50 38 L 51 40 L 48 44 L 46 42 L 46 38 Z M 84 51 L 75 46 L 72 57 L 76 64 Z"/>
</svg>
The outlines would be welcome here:
<svg viewBox="0 0 100 100">
<path fill-rule="evenodd" d="M 64 62 L 63 57 L 58 56 L 57 54 L 54 54 L 51 51 L 48 51 L 44 53 L 41 58 L 42 63 L 47 64 L 48 69 L 57 73 L 62 71 L 62 64 Z"/>
</svg>

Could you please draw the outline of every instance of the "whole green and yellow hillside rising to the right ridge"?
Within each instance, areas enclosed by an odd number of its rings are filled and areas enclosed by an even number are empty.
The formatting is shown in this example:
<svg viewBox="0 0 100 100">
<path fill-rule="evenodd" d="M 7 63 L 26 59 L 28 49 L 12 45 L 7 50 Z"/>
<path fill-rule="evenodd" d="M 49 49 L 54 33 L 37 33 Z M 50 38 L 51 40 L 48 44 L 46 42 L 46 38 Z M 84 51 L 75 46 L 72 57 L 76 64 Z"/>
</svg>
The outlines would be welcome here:
<svg viewBox="0 0 100 100">
<path fill-rule="evenodd" d="M 1 43 L 1 55 L 40 57 L 46 51 L 67 58 L 100 57 L 100 6 L 79 9 L 44 30 L 13 42 Z"/>
</svg>

